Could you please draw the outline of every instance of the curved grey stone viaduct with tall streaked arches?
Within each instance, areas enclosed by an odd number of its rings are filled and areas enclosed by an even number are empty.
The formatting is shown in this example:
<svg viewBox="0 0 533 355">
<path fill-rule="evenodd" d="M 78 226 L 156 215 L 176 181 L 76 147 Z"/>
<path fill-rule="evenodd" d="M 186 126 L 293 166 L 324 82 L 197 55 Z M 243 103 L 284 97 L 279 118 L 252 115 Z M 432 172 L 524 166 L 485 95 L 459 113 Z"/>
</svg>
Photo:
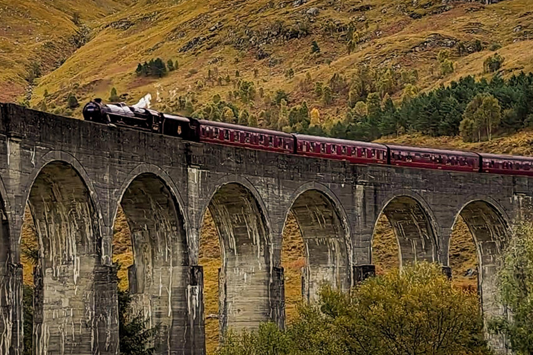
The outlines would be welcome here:
<svg viewBox="0 0 533 355">
<path fill-rule="evenodd" d="M 35 268 L 37 354 L 117 354 L 112 226 L 119 205 L 132 232 L 130 291 L 162 324 L 160 354 L 204 354 L 198 239 L 210 210 L 223 255 L 224 329 L 284 323 L 282 230 L 292 211 L 305 241 L 305 297 L 323 281 L 348 289 L 372 263 L 380 214 L 400 260 L 448 266 L 459 214 L 480 261 L 484 312 L 496 257 L 524 218 L 533 179 L 325 159 L 199 144 L 0 105 L 0 353 L 22 354 L 21 230 L 28 205 Z"/>
</svg>

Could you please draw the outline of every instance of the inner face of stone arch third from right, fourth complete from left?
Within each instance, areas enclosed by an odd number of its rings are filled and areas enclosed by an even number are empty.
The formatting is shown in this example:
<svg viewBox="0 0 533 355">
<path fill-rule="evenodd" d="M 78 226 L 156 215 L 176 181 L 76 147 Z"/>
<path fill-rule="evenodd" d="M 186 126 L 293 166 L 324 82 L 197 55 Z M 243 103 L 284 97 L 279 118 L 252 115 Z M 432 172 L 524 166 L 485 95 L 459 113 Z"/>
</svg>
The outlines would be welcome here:
<svg viewBox="0 0 533 355">
<path fill-rule="evenodd" d="M 324 282 L 348 290 L 350 231 L 348 217 L 335 193 L 318 183 L 305 184 L 292 196 L 285 223 L 289 213 L 296 219 L 305 248 L 304 299 L 315 301 Z"/>
</svg>

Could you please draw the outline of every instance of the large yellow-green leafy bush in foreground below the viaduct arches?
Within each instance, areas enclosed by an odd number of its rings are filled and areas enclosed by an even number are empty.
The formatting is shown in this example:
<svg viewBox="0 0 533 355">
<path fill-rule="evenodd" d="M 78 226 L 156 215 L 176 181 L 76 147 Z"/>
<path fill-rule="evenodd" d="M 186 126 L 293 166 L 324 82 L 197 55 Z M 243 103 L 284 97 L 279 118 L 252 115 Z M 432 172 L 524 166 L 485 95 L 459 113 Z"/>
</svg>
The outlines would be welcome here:
<svg viewBox="0 0 533 355">
<path fill-rule="evenodd" d="M 263 324 L 227 334 L 219 355 L 489 354 L 482 329 L 477 295 L 423 263 L 368 279 L 350 295 L 325 286 L 285 331 Z"/>
</svg>

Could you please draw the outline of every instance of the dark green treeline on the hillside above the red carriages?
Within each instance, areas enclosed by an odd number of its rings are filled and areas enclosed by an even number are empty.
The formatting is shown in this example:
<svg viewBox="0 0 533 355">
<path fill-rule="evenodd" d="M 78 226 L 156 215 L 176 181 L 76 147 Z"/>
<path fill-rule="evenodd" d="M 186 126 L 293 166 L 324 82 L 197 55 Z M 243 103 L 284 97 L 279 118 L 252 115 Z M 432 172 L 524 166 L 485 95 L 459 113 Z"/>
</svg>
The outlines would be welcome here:
<svg viewBox="0 0 533 355">
<path fill-rule="evenodd" d="M 476 81 L 466 76 L 447 87 L 404 97 L 399 104 L 369 94 L 366 101 L 348 110 L 344 121 L 329 130 L 312 128 L 310 133 L 364 140 L 404 132 L 430 136 L 461 133 L 468 141 L 490 139 L 491 130 L 513 131 L 528 126 L 533 127 L 533 73 L 520 73 L 508 80 L 494 76 Z M 482 130 L 482 134 L 473 135 L 468 128 Z"/>
</svg>

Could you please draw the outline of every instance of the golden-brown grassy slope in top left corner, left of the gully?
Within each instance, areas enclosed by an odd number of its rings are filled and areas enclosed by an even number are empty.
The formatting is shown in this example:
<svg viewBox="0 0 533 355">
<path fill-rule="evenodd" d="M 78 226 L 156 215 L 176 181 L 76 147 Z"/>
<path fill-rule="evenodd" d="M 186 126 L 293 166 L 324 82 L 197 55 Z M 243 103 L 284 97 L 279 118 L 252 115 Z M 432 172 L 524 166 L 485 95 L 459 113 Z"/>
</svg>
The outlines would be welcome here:
<svg viewBox="0 0 533 355">
<path fill-rule="evenodd" d="M 71 37 L 83 23 L 95 26 L 103 17 L 124 9 L 128 0 L 0 0 L 0 101 L 15 101 L 28 89 L 28 68 L 42 73 L 59 66 L 76 46 Z"/>
</svg>

